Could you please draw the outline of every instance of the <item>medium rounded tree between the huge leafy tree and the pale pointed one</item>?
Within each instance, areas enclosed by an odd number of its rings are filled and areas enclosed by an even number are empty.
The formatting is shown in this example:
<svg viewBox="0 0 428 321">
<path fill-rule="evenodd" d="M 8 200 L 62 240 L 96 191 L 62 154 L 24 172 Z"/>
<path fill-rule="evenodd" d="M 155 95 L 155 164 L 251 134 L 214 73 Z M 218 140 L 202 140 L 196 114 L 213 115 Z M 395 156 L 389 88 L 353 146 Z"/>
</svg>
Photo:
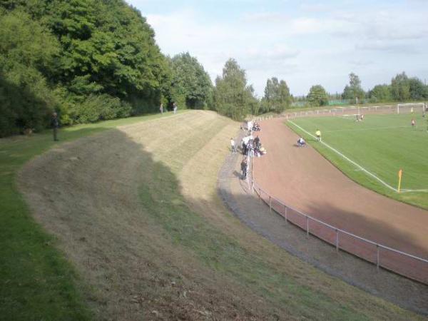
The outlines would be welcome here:
<svg viewBox="0 0 428 321">
<path fill-rule="evenodd" d="M 183 53 L 170 60 L 172 69 L 170 101 L 188 108 L 206 108 L 213 91 L 210 76 L 198 59 Z"/>
</svg>

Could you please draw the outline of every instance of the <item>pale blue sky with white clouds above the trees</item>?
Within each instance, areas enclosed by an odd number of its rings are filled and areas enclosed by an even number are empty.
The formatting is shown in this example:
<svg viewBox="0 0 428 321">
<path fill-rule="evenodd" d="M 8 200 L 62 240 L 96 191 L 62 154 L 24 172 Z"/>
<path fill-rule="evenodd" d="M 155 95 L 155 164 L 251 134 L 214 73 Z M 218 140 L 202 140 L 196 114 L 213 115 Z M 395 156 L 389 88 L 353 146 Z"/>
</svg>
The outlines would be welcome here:
<svg viewBox="0 0 428 321">
<path fill-rule="evenodd" d="M 351 72 L 366 91 L 402 71 L 428 81 L 428 0 L 126 1 L 163 54 L 189 52 L 213 83 L 235 58 L 259 97 L 271 77 L 294 96 L 342 93 Z"/>
</svg>

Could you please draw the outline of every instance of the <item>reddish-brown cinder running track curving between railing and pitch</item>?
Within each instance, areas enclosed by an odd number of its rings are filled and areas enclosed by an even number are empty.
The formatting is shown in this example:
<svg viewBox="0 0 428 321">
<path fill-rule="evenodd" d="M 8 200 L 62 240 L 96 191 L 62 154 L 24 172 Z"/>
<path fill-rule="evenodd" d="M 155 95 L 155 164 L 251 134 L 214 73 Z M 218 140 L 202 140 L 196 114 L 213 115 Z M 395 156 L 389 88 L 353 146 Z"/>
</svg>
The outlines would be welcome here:
<svg viewBox="0 0 428 321">
<path fill-rule="evenodd" d="M 259 134 L 268 153 L 255 160 L 254 175 L 263 190 L 337 228 L 421 258 L 428 257 L 426 210 L 367 190 L 310 146 L 297 148 L 298 137 L 284 121 L 276 118 L 263 122 Z M 372 255 L 373 249 L 363 246 L 356 244 L 356 250 L 362 248 L 357 254 Z M 428 282 L 428 268 L 413 267 L 397 256 L 391 259 L 397 262 L 400 272 L 407 271 L 412 277 Z"/>
</svg>

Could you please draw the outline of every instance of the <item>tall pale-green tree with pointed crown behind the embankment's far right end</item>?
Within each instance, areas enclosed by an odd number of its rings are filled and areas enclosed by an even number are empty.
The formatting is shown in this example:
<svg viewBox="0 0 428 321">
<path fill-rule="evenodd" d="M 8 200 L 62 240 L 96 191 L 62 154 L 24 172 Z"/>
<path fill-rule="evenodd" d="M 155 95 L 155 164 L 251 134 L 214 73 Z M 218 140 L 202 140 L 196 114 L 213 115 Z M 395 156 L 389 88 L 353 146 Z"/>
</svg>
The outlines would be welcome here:
<svg viewBox="0 0 428 321">
<path fill-rule="evenodd" d="M 215 79 L 213 107 L 218 113 L 236 121 L 242 121 L 254 103 L 253 86 L 247 86 L 245 70 L 235 59 L 226 61 L 222 76 Z"/>
</svg>

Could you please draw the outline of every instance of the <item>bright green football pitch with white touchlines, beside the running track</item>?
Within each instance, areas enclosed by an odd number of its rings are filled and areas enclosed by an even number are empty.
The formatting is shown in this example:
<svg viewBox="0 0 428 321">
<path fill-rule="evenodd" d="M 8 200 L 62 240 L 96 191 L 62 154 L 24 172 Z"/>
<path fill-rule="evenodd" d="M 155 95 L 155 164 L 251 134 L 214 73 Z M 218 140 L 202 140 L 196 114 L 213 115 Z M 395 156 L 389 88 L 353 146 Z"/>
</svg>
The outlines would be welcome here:
<svg viewBox="0 0 428 321">
<path fill-rule="evenodd" d="M 415 128 L 410 125 L 412 118 Z M 428 132 L 421 114 L 297 118 L 287 122 L 357 183 L 391 198 L 428 208 Z M 322 132 L 322 142 L 313 135 Z M 401 193 L 397 193 L 402 169 Z"/>
</svg>

